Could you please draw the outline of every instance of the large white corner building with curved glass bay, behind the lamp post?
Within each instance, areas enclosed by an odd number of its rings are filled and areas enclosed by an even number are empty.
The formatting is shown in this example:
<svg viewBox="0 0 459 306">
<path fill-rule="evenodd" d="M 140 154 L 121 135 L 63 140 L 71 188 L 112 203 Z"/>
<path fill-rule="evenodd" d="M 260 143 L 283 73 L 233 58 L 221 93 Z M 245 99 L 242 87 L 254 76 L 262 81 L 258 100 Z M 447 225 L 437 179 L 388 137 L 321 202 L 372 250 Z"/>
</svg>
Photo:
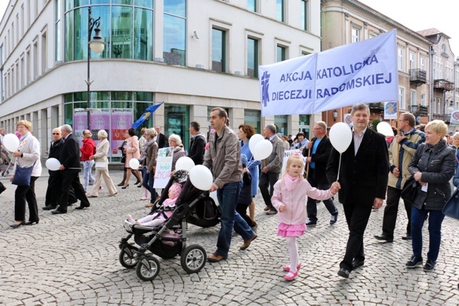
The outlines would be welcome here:
<svg viewBox="0 0 459 306">
<path fill-rule="evenodd" d="M 212 107 L 233 128 L 261 131 L 258 66 L 321 51 L 320 0 L 10 0 L 0 23 L 0 126 L 32 122 L 42 153 L 51 131 L 90 123 L 109 133 L 110 160 L 129 128 L 160 125 L 189 146 L 189 122 L 208 131 Z M 90 56 L 88 12 L 100 17 L 105 50 Z M 266 117 L 282 134 L 309 129 L 309 116 Z M 139 132 L 140 134 L 140 132 Z"/>
</svg>

